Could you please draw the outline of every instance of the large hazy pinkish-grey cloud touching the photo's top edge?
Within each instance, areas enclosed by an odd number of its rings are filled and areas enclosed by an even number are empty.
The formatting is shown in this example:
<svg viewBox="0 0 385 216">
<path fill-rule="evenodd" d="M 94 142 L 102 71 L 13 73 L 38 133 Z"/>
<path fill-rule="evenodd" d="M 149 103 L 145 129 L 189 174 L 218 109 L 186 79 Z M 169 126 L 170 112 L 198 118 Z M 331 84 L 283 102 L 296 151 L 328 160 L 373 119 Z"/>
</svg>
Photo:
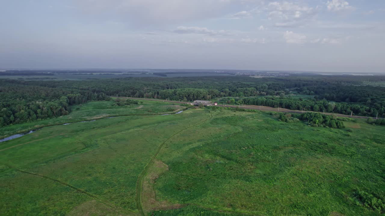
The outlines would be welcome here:
<svg viewBox="0 0 385 216">
<path fill-rule="evenodd" d="M 170 25 L 221 17 L 245 0 L 72 0 L 83 13 L 137 26 Z"/>
</svg>

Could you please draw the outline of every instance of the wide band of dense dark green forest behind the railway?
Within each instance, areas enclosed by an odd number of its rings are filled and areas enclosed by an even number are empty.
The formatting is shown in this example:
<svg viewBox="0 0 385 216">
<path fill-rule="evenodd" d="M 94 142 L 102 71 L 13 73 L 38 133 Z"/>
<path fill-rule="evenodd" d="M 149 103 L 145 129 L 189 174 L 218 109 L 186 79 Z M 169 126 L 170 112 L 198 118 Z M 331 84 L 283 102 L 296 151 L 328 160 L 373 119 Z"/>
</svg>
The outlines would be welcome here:
<svg viewBox="0 0 385 216">
<path fill-rule="evenodd" d="M 251 78 L 146 77 L 82 81 L 0 79 L 0 126 L 67 115 L 70 106 L 109 96 L 164 100 L 218 100 L 350 115 L 385 117 L 385 88 L 362 85 L 385 76 Z M 296 98 L 295 94 L 308 95 Z"/>
</svg>

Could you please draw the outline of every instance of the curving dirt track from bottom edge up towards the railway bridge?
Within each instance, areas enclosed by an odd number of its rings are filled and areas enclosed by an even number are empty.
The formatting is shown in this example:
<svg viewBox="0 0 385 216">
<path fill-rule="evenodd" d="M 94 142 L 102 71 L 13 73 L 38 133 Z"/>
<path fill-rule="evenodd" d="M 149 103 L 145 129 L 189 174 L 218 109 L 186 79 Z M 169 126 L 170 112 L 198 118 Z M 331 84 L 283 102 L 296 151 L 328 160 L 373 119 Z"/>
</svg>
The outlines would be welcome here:
<svg viewBox="0 0 385 216">
<path fill-rule="evenodd" d="M 215 113 L 215 112 L 214 112 L 214 113 Z M 136 181 L 136 197 L 135 197 L 135 201 L 136 201 L 137 209 L 139 210 L 139 213 L 140 213 L 142 216 L 145 215 L 145 214 L 144 214 L 144 210 L 143 210 L 143 206 L 142 206 L 142 203 L 141 203 L 141 201 L 142 201 L 142 200 L 141 200 L 141 193 L 142 193 L 142 187 L 143 187 L 143 179 L 144 179 L 144 176 L 146 175 L 148 169 L 154 164 L 154 160 L 155 160 L 156 156 L 159 154 L 159 151 L 161 150 L 161 148 L 163 147 L 163 145 L 164 145 L 167 141 L 171 140 L 174 136 L 176 136 L 177 134 L 181 133 L 182 131 L 185 131 L 185 130 L 187 130 L 187 129 L 189 129 L 189 128 L 192 128 L 192 127 L 194 127 L 194 126 L 196 126 L 196 125 L 199 125 L 199 124 L 201 124 L 201 123 L 204 123 L 205 121 L 207 121 L 207 120 L 213 118 L 213 114 L 214 114 L 214 113 L 210 113 L 210 117 L 209 117 L 208 119 L 203 120 L 203 121 L 201 121 L 201 122 L 198 122 L 198 123 L 196 123 L 196 124 L 194 124 L 194 125 L 188 126 L 187 128 L 184 128 L 184 129 L 182 129 L 182 130 L 180 130 L 180 131 L 174 133 L 172 136 L 170 136 L 166 141 L 164 141 L 164 142 L 159 146 L 159 148 L 157 149 L 155 155 L 152 156 L 151 161 L 146 165 L 146 167 L 144 167 L 142 173 L 139 174 L 138 180 Z"/>
</svg>

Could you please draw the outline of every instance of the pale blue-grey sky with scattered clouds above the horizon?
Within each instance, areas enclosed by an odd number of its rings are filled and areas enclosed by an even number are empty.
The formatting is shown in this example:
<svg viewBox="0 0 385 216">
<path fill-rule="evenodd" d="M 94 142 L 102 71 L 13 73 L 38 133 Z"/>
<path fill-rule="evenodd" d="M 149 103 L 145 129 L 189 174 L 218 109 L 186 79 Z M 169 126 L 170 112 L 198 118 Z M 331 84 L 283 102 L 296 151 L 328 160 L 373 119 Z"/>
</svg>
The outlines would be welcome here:
<svg viewBox="0 0 385 216">
<path fill-rule="evenodd" d="M 385 72 L 385 0 L 0 0 L 0 68 Z"/>
</svg>

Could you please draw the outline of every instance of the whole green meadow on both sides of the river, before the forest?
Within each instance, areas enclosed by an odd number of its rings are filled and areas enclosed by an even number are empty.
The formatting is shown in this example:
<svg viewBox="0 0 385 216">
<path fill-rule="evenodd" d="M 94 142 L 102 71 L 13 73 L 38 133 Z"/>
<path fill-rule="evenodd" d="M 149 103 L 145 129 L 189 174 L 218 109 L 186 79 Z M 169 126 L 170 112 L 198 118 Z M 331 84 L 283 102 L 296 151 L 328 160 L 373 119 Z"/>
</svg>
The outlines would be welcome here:
<svg viewBox="0 0 385 216">
<path fill-rule="evenodd" d="M 264 112 L 211 108 L 142 115 L 172 105 L 110 103 L 38 123 L 131 116 L 49 126 L 0 143 L 2 215 L 384 213 L 383 126 L 313 128 Z"/>
</svg>

